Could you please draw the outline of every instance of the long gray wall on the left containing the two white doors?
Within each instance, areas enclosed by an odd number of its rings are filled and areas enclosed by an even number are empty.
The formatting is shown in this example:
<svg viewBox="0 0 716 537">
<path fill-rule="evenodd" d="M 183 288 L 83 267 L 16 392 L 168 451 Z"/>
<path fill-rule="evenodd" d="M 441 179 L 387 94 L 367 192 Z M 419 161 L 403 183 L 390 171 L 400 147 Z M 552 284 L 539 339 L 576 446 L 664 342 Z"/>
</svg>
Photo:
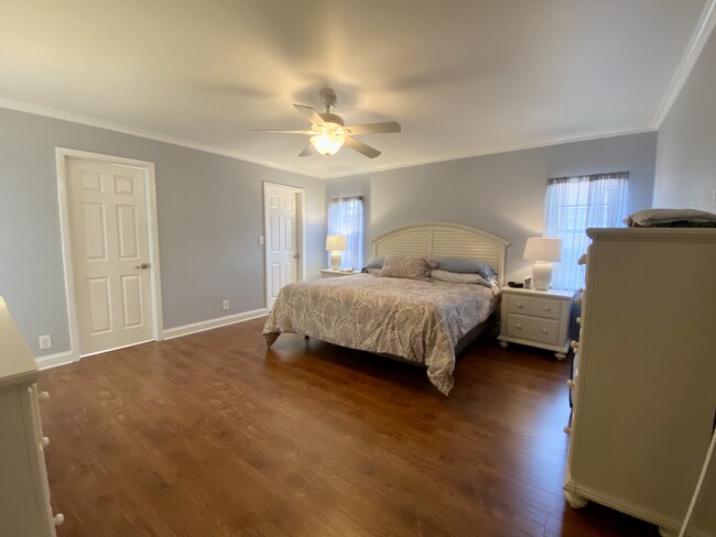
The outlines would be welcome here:
<svg viewBox="0 0 716 537">
<path fill-rule="evenodd" d="M 262 180 L 305 188 L 306 275 L 323 266 L 319 179 L 0 109 L 0 295 L 36 357 L 69 350 L 56 146 L 155 163 L 165 329 L 265 306 Z"/>
</svg>

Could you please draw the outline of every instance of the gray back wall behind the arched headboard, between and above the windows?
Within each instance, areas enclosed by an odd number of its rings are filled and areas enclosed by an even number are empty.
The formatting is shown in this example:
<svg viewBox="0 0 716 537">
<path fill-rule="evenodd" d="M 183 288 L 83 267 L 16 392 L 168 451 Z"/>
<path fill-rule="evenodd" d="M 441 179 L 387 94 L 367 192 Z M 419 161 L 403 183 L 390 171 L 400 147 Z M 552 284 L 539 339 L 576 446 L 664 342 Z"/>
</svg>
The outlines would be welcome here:
<svg viewBox="0 0 716 537">
<path fill-rule="evenodd" d="M 575 142 L 496 155 L 336 178 L 326 199 L 366 197 L 366 252 L 370 239 L 397 226 L 449 221 L 481 228 L 510 241 L 508 280 L 529 275 L 522 260 L 528 237 L 542 234 L 549 177 L 629 171 L 625 216 L 651 207 L 657 133 Z"/>
</svg>

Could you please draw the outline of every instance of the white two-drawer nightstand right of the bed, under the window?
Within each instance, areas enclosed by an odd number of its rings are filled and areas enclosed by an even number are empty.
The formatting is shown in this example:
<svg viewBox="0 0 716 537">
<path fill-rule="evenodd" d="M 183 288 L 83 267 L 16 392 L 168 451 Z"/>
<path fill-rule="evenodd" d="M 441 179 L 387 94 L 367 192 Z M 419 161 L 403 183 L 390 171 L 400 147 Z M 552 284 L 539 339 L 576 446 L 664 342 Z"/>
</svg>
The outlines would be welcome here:
<svg viewBox="0 0 716 537">
<path fill-rule="evenodd" d="M 521 343 L 554 351 L 563 360 L 569 349 L 572 291 L 502 288 L 500 346 Z"/>
</svg>

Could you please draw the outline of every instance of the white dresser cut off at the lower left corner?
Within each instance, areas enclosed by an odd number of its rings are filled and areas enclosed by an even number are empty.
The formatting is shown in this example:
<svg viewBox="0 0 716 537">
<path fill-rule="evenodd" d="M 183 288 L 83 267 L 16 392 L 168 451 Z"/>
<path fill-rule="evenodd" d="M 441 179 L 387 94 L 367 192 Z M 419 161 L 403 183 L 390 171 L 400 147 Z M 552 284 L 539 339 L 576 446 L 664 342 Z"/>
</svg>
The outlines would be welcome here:
<svg viewBox="0 0 716 537">
<path fill-rule="evenodd" d="M 39 405 L 37 366 L 0 297 L 0 537 L 55 536 Z"/>
</svg>

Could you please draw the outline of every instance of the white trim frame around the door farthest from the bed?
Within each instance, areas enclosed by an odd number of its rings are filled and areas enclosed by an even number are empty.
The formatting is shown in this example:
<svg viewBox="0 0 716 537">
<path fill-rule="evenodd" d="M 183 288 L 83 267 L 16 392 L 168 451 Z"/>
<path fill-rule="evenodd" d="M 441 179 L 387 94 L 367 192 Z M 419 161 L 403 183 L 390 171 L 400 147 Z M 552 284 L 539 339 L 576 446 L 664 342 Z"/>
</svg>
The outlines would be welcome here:
<svg viewBox="0 0 716 537">
<path fill-rule="evenodd" d="M 67 161 L 72 157 L 87 161 L 132 166 L 144 172 L 144 194 L 147 200 L 147 234 L 149 235 L 149 259 L 152 270 L 152 336 L 156 341 L 164 339 L 162 320 L 162 284 L 159 264 L 159 224 L 156 220 L 156 180 L 154 163 L 104 155 L 87 151 L 55 147 L 57 165 L 57 200 L 59 204 L 59 231 L 62 237 L 62 259 L 65 271 L 65 296 L 67 299 L 67 325 L 69 328 L 69 353 L 73 362 L 79 361 L 79 328 L 77 322 L 77 302 L 75 295 L 75 271 L 72 256 L 72 238 L 69 232 L 69 198 L 67 196 Z"/>
</svg>

